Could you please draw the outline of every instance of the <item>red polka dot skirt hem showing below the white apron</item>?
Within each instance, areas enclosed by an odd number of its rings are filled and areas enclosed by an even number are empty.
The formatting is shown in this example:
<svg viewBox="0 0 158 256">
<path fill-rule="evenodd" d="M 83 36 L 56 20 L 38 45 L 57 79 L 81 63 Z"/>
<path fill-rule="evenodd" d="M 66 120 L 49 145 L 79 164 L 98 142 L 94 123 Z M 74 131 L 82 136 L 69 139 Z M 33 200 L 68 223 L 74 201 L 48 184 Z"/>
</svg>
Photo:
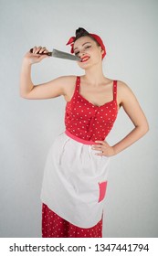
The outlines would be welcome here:
<svg viewBox="0 0 158 256">
<path fill-rule="evenodd" d="M 43 238 L 102 238 L 102 219 L 90 229 L 81 229 L 60 218 L 43 204 L 42 208 Z"/>
</svg>

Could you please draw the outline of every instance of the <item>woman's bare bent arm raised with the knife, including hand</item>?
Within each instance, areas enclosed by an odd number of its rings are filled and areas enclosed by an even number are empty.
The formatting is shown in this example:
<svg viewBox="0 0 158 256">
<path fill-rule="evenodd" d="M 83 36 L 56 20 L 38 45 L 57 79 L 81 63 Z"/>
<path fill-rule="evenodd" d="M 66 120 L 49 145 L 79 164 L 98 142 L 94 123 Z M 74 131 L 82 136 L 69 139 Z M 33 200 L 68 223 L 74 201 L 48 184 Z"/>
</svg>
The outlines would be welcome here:
<svg viewBox="0 0 158 256">
<path fill-rule="evenodd" d="M 34 48 L 33 53 L 27 52 L 22 63 L 20 74 L 20 96 L 28 100 L 43 100 L 66 95 L 69 84 L 74 80 L 71 76 L 59 77 L 43 84 L 34 85 L 31 80 L 32 64 L 40 62 L 46 55 L 41 56 L 37 52 L 47 52 L 46 48 Z"/>
</svg>

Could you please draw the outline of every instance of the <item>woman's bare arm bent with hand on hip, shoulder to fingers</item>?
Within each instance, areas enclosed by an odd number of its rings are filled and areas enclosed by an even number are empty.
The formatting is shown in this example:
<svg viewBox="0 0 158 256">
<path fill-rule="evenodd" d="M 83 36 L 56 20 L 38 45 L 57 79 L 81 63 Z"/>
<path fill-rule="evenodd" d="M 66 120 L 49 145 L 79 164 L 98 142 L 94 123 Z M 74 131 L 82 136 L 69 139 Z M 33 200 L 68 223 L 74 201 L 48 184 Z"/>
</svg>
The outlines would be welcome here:
<svg viewBox="0 0 158 256">
<path fill-rule="evenodd" d="M 146 120 L 142 108 L 137 101 L 132 90 L 124 83 L 118 82 L 118 103 L 134 124 L 134 129 L 127 134 L 119 143 L 110 146 L 106 142 L 97 141 L 98 145 L 94 145 L 93 149 L 100 150 L 103 153 L 98 155 L 117 155 L 125 148 L 129 147 L 139 140 L 149 130 L 149 125 Z"/>
</svg>

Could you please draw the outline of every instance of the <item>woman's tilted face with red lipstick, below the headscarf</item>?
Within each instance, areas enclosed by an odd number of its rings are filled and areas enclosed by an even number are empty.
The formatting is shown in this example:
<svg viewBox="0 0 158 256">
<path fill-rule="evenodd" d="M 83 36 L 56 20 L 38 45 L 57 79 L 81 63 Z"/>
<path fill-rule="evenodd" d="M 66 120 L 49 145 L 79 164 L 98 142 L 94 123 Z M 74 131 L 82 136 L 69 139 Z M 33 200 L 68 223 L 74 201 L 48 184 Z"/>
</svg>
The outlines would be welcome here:
<svg viewBox="0 0 158 256">
<path fill-rule="evenodd" d="M 86 69 L 102 60 L 102 49 L 90 37 L 80 37 L 74 43 L 74 54 L 78 56 L 81 61 L 79 67 Z"/>
</svg>

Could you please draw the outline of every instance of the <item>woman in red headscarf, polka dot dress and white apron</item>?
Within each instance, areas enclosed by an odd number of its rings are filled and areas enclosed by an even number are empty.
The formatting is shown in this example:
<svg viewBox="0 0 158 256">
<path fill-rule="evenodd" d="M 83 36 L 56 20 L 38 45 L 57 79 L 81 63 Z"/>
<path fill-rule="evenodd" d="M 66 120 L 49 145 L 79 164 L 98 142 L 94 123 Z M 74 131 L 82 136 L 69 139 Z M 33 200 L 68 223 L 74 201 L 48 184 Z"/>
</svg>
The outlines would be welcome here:
<svg viewBox="0 0 158 256">
<path fill-rule="evenodd" d="M 130 88 L 104 76 L 106 48 L 99 36 L 79 28 L 68 44 L 80 59 L 83 76 L 59 77 L 34 86 L 31 65 L 47 58 L 40 55 L 47 53 L 42 47 L 26 53 L 21 71 L 21 97 L 39 100 L 63 95 L 67 101 L 66 132 L 47 155 L 41 193 L 42 236 L 100 238 L 110 158 L 147 133 L 148 123 Z M 105 139 L 121 107 L 134 129 L 111 146 Z"/>
</svg>

